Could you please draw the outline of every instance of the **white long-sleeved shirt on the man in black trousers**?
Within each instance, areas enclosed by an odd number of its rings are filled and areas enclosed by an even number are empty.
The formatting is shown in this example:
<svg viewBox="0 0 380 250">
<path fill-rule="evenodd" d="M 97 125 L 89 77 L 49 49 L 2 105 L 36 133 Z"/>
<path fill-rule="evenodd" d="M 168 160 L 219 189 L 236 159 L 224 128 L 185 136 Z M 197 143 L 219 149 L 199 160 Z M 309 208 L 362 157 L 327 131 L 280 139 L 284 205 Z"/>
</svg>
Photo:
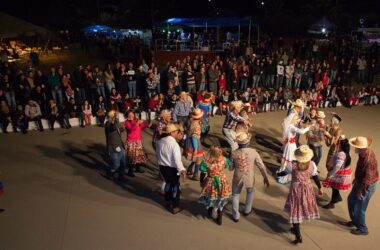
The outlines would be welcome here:
<svg viewBox="0 0 380 250">
<path fill-rule="evenodd" d="M 181 159 L 181 148 L 172 136 L 166 136 L 157 142 L 158 165 L 176 168 L 178 172 L 186 170 Z"/>
</svg>

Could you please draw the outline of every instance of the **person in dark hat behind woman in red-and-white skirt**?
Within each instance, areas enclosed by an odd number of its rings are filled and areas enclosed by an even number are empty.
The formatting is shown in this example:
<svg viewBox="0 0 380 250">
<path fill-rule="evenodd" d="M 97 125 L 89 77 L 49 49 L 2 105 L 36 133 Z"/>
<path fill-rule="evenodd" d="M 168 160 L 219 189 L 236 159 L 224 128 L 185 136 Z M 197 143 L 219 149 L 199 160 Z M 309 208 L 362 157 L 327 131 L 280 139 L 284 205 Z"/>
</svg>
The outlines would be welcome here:
<svg viewBox="0 0 380 250">
<path fill-rule="evenodd" d="M 324 132 L 326 145 L 330 147 L 326 160 L 327 171 L 330 171 L 334 167 L 334 155 L 339 137 L 342 135 L 342 129 L 339 126 L 342 118 L 334 112 L 331 112 L 331 114 L 333 117 L 331 118 L 330 129 Z"/>
</svg>

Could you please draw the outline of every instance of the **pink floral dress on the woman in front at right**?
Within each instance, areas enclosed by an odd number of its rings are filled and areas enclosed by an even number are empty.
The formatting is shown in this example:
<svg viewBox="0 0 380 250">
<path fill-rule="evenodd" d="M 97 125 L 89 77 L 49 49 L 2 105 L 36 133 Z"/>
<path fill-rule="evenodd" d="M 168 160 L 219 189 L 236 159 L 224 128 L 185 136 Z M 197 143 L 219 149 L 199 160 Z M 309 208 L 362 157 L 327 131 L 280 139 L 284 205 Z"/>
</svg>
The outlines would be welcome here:
<svg viewBox="0 0 380 250">
<path fill-rule="evenodd" d="M 299 171 L 295 164 L 289 164 L 285 172 L 292 173 L 292 182 L 284 207 L 284 211 L 289 214 L 290 223 L 318 219 L 317 201 L 310 181 L 311 176 L 318 174 L 315 163 L 311 161 L 309 168 L 305 171 Z"/>
</svg>

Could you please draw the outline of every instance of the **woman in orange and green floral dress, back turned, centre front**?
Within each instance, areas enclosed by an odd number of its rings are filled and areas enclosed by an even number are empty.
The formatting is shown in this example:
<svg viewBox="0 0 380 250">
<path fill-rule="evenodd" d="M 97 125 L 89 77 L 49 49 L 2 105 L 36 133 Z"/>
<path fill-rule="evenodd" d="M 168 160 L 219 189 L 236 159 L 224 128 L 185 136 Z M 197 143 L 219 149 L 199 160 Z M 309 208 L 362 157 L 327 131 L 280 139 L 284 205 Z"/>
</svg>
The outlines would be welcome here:
<svg viewBox="0 0 380 250">
<path fill-rule="evenodd" d="M 217 223 L 222 225 L 223 208 L 230 200 L 231 188 L 225 170 L 229 160 L 223 156 L 220 147 L 212 146 L 207 159 L 207 177 L 202 189 L 199 203 L 206 205 L 209 216 L 213 210 L 218 213 Z"/>
</svg>

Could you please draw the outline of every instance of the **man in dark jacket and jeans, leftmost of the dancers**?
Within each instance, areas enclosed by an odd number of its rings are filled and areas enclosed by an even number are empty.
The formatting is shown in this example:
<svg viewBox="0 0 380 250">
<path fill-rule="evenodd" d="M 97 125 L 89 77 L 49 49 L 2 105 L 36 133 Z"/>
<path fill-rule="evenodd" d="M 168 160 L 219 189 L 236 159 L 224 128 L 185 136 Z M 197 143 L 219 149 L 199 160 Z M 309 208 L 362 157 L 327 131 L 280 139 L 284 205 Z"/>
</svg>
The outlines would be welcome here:
<svg viewBox="0 0 380 250">
<path fill-rule="evenodd" d="M 105 134 L 107 143 L 107 152 L 111 158 L 111 166 L 107 170 L 107 177 L 113 179 L 116 171 L 118 171 L 118 180 L 125 182 L 125 149 L 121 138 L 121 132 L 124 126 L 119 126 L 117 113 L 114 110 L 108 112 L 108 121 L 105 124 Z"/>
</svg>

